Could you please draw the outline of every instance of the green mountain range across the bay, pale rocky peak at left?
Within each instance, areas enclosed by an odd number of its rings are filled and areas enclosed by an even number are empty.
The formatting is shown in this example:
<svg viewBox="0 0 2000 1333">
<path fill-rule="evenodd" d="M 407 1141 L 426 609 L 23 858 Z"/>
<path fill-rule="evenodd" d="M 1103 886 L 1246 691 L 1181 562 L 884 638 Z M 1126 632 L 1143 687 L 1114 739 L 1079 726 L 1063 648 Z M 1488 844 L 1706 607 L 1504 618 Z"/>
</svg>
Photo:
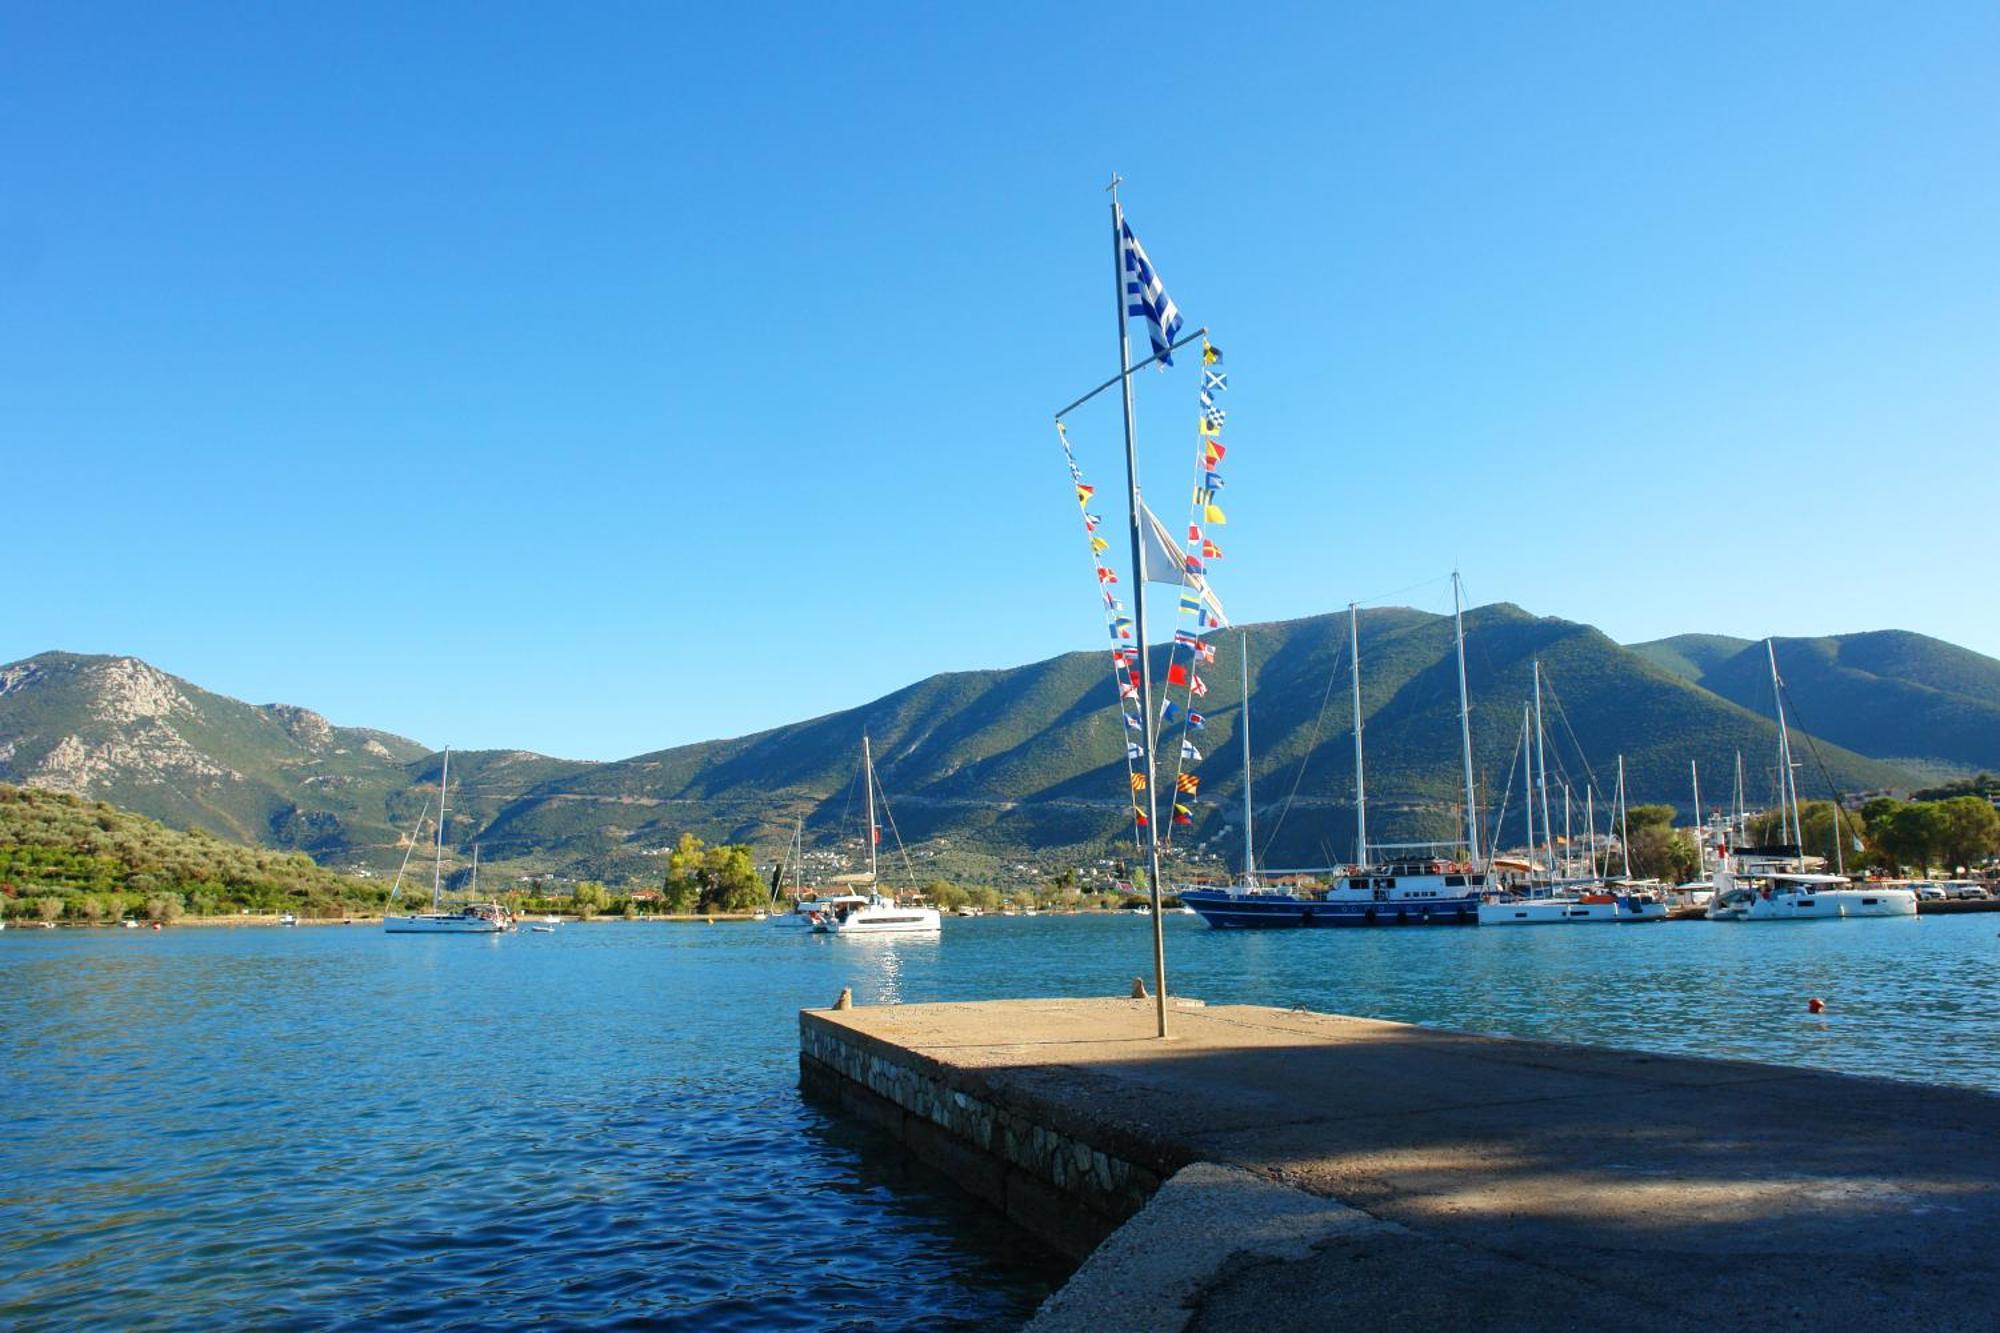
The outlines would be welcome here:
<svg viewBox="0 0 2000 1333">
<path fill-rule="evenodd" d="M 1342 859 L 1354 791 L 1346 614 L 1246 632 L 1260 855 L 1270 865 Z M 1934 737 L 1930 721 L 2000 713 L 2000 662 L 1894 632 L 1798 644 L 1850 640 L 1882 642 L 1824 654 L 1800 646 L 1796 664 L 1790 640 L 1778 648 L 1802 725 L 1822 729 L 1810 749 L 1840 789 L 1908 789 L 1940 769 L 2000 769 L 2000 733 L 1960 727 L 1964 735 Z M 1206 753 L 1202 801 L 1182 845 L 1208 843 L 1234 859 L 1238 632 L 1214 642 L 1222 660 L 1206 669 L 1208 725 L 1190 733 Z M 1520 813 L 1516 747 L 1536 660 L 1546 677 L 1550 783 L 1576 793 L 1574 819 L 1586 789 L 1604 805 L 1620 753 L 1634 803 L 1686 809 L 1690 761 L 1720 799 L 1738 751 L 1748 799 L 1762 803 L 1774 783 L 1776 727 L 1768 679 L 1760 697 L 1744 666 L 1760 654 L 1760 642 L 1696 634 L 1626 648 L 1588 624 L 1510 604 L 1468 612 L 1466 677 L 1488 817 Z M 1366 610 L 1360 656 L 1370 835 L 1454 837 L 1462 775 L 1450 616 Z M 1814 669 L 1822 658 L 1832 666 Z M 1834 687 L 1844 693 L 1826 693 Z M 1922 729 L 1898 721 L 1910 709 L 1926 719 Z M 480 843 L 494 875 L 650 879 L 660 849 L 682 831 L 772 853 L 804 819 L 822 857 L 852 857 L 864 733 L 890 797 L 886 847 L 910 845 L 920 873 L 1000 877 L 1018 861 L 1060 865 L 1130 847 L 1126 731 L 1104 652 L 938 675 L 858 709 L 618 763 L 454 753 L 450 843 L 460 859 Z M 1172 743 L 1164 749 L 1172 753 Z M 434 799 L 438 765 L 414 741 L 210 695 L 136 658 L 44 652 L 0 669 L 0 781 L 104 797 L 170 825 L 204 823 L 324 861 L 394 869 L 398 841 Z M 1808 793 L 1824 785 L 1816 771 L 1802 777 Z"/>
</svg>

